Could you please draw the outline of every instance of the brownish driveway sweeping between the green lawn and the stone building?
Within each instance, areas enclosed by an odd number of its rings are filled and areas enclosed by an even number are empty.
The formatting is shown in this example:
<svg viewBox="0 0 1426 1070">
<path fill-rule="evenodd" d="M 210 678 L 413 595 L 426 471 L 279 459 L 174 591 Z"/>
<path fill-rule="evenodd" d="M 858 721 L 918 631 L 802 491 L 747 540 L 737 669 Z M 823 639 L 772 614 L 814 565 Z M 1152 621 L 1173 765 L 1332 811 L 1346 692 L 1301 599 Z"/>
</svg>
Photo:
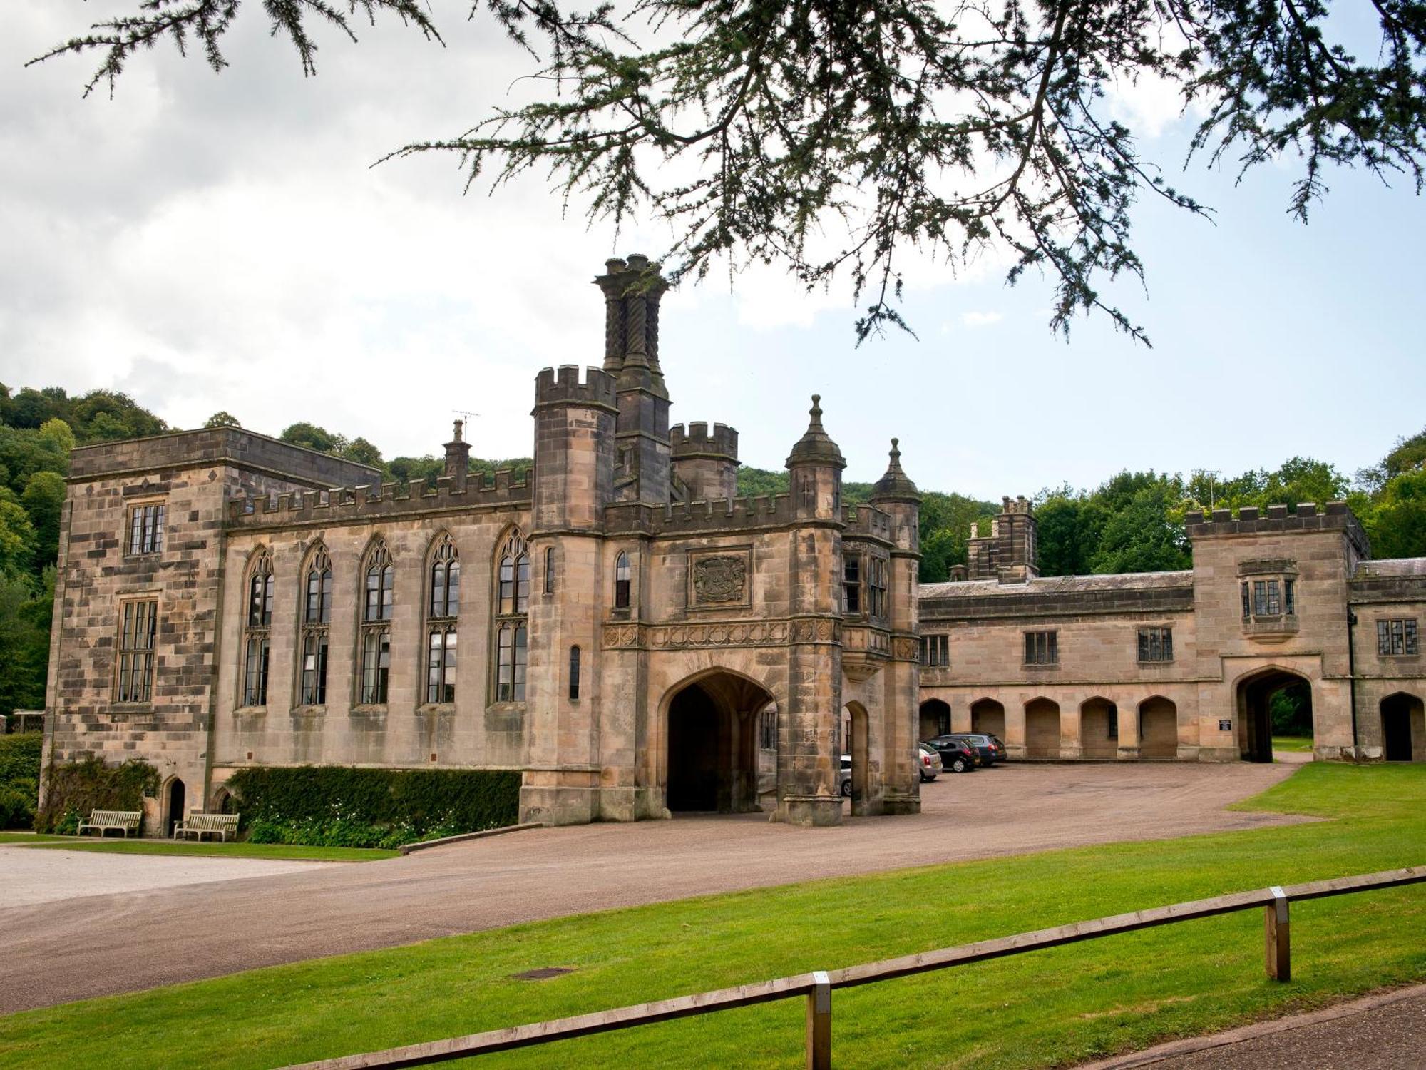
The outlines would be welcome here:
<svg viewBox="0 0 1426 1070">
<path fill-rule="evenodd" d="M 0 1013 L 714 892 L 1291 823 L 1302 819 L 1224 807 L 1293 769 L 1010 765 L 923 785 L 920 815 L 830 829 L 760 815 L 684 816 L 539 829 L 222 883 L 101 889 L 0 909 Z"/>
</svg>

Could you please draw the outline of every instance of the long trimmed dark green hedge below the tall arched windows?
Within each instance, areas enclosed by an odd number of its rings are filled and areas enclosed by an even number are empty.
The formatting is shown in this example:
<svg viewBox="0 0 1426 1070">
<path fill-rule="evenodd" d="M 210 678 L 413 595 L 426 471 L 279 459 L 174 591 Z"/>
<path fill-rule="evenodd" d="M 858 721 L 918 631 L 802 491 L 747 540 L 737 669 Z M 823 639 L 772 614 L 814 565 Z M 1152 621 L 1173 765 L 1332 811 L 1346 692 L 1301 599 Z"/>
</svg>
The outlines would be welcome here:
<svg viewBox="0 0 1426 1070">
<path fill-rule="evenodd" d="M 255 843 L 395 847 L 513 825 L 520 775 L 486 769 L 240 769 L 232 809 Z"/>
</svg>

